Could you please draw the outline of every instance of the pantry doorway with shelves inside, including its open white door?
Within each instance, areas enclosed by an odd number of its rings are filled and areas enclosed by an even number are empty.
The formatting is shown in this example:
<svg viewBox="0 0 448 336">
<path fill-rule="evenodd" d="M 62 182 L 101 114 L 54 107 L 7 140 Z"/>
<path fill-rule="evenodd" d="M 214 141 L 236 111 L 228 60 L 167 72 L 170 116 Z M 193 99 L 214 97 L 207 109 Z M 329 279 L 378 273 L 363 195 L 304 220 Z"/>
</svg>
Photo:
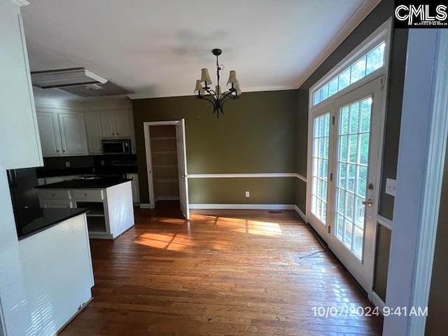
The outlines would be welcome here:
<svg viewBox="0 0 448 336">
<path fill-rule="evenodd" d="M 190 219 L 185 120 L 144 123 L 150 208 L 159 201 L 179 200 Z"/>
</svg>

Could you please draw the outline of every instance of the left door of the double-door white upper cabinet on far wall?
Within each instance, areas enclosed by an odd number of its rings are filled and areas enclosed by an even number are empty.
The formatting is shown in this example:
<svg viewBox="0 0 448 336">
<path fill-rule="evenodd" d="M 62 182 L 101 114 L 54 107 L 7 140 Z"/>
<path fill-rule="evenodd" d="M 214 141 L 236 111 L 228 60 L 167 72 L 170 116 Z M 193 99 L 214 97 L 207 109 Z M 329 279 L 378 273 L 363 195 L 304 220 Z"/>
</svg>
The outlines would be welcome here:
<svg viewBox="0 0 448 336">
<path fill-rule="evenodd" d="M 61 135 L 57 114 L 50 112 L 37 112 L 37 125 L 41 134 L 43 156 L 62 155 Z"/>
</svg>

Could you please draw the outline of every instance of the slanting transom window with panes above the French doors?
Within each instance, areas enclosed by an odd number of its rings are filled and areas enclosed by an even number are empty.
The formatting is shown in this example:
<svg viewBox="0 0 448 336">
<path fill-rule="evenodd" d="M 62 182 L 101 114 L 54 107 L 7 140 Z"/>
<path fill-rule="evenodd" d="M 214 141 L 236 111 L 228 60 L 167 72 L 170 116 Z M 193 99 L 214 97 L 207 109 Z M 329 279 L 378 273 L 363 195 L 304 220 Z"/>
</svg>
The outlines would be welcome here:
<svg viewBox="0 0 448 336">
<path fill-rule="evenodd" d="M 313 94 L 313 106 L 384 66 L 385 50 L 386 41 L 382 41 L 363 57 L 360 57 L 360 59 L 357 59 L 344 69 L 344 71 L 341 71 L 337 76 L 318 87 Z"/>
</svg>

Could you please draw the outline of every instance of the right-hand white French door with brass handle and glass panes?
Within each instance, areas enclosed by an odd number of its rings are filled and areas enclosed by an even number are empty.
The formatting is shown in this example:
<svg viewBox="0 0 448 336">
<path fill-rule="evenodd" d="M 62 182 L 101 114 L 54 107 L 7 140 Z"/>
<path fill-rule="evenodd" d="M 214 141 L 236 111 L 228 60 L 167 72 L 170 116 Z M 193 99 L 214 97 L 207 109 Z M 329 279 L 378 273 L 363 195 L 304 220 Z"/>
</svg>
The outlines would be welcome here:
<svg viewBox="0 0 448 336">
<path fill-rule="evenodd" d="M 328 246 L 370 293 L 377 224 L 381 78 L 335 100 Z"/>
</svg>

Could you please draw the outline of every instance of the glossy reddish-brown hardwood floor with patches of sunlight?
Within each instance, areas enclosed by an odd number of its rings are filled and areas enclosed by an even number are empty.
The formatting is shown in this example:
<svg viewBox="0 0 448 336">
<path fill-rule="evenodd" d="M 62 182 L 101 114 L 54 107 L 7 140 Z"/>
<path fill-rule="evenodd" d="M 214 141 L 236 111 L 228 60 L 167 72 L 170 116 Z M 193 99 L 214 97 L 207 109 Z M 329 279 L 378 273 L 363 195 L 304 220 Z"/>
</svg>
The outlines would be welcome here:
<svg viewBox="0 0 448 336">
<path fill-rule="evenodd" d="M 330 253 L 302 258 L 322 248 L 294 211 L 194 211 L 188 223 L 171 206 L 90 241 L 94 300 L 60 335 L 381 335 L 381 317 L 350 314 L 369 302 Z"/>
</svg>

